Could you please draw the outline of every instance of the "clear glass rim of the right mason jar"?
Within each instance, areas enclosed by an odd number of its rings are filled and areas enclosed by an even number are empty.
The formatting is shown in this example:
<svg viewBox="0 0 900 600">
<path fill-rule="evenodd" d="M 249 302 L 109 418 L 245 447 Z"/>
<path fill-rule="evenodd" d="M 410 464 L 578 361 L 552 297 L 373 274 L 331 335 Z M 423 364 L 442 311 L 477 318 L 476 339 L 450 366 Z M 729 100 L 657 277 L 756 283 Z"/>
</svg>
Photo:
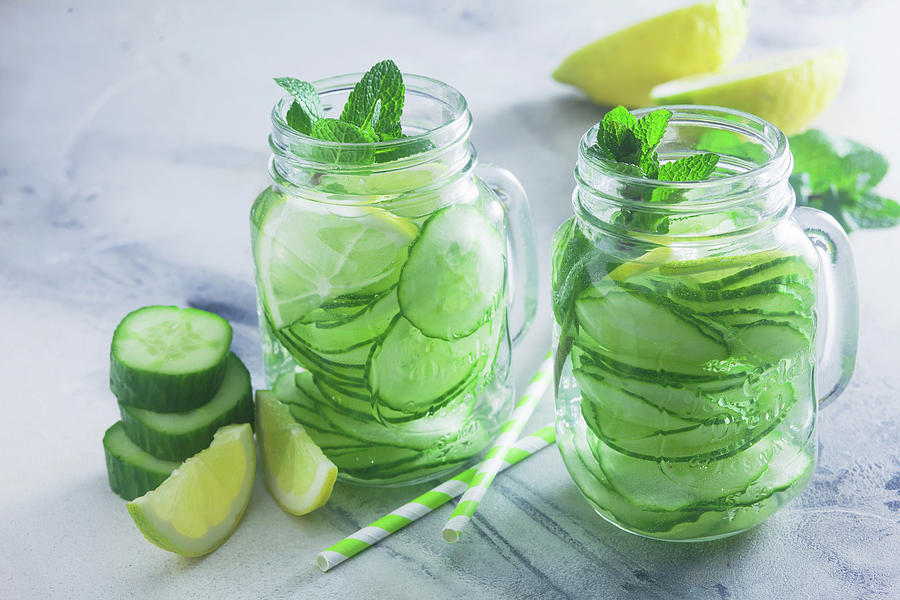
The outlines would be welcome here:
<svg viewBox="0 0 900 600">
<path fill-rule="evenodd" d="M 697 125 L 715 128 L 719 130 L 730 130 L 734 133 L 743 134 L 752 138 L 765 147 L 768 158 L 746 171 L 734 174 L 726 174 L 713 179 L 702 181 L 661 181 L 658 179 L 647 179 L 644 177 L 636 177 L 620 173 L 610 168 L 609 163 L 600 160 L 587 149 L 594 144 L 597 135 L 598 125 L 591 127 L 581 138 L 579 144 L 579 165 L 584 162 L 592 170 L 598 174 L 614 179 L 623 184 L 640 186 L 643 189 L 653 188 L 670 188 L 670 189 L 690 189 L 690 190 L 716 190 L 717 188 L 731 187 L 736 184 L 749 182 L 751 180 L 767 180 L 777 181 L 786 178 L 790 174 L 793 159 L 790 154 L 787 136 L 778 127 L 765 119 L 756 115 L 746 113 L 740 110 L 724 108 L 719 106 L 695 105 L 695 104 L 673 104 L 665 106 L 657 106 L 652 108 L 642 108 L 631 111 L 631 113 L 640 118 L 654 110 L 665 108 L 672 112 L 669 120 L 670 125 Z M 576 179 L 580 183 L 584 182 L 584 178 L 577 173 Z M 707 200 L 692 199 L 690 202 L 659 202 L 654 203 L 657 208 L 672 208 L 676 211 L 679 209 L 697 209 L 700 207 L 719 206 L 723 202 L 728 202 L 727 198 L 723 198 L 716 194 L 710 194 Z M 629 202 L 625 202 L 629 203 Z M 643 203 L 636 202 L 636 205 Z"/>
</svg>

